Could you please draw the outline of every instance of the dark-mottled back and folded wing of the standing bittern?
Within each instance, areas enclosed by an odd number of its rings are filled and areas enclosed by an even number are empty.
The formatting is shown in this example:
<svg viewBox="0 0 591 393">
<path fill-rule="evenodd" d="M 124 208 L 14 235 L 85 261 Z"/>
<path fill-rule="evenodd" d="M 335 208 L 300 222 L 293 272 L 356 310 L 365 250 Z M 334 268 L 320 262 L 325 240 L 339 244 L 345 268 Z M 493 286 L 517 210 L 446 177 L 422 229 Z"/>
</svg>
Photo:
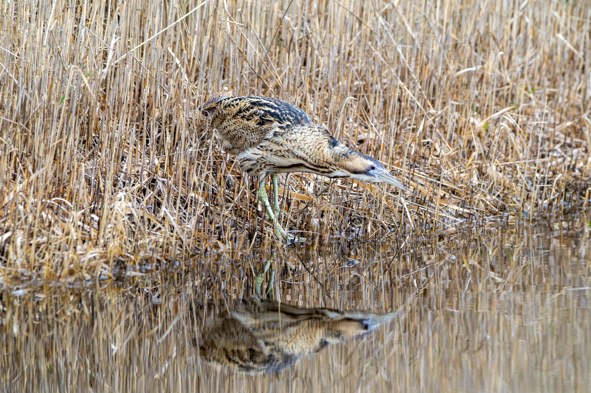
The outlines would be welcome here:
<svg viewBox="0 0 591 393">
<path fill-rule="evenodd" d="M 224 150 L 232 154 L 255 147 L 271 131 L 312 124 L 306 112 L 277 98 L 217 92 L 202 108 L 211 116 Z"/>
</svg>

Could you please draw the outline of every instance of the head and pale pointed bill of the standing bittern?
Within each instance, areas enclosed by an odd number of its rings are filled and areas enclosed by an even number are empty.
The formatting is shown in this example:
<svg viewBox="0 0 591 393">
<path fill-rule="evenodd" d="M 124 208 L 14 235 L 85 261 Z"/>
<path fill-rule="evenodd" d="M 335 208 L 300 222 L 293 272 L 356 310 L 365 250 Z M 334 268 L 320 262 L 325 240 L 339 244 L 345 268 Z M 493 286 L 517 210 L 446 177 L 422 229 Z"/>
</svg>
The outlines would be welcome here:
<svg viewBox="0 0 591 393">
<path fill-rule="evenodd" d="M 388 183 L 398 187 L 402 191 L 406 190 L 400 181 L 392 176 L 384 165 L 375 158 L 368 155 L 355 152 L 350 157 L 340 161 L 339 166 L 346 176 L 366 183 Z"/>
</svg>

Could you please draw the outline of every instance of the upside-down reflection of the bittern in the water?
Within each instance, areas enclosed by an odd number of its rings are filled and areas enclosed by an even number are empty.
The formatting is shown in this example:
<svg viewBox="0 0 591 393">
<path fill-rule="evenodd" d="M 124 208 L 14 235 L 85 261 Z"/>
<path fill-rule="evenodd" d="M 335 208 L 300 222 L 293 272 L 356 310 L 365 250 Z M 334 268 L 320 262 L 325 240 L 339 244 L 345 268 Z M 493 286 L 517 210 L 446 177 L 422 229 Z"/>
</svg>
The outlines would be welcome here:
<svg viewBox="0 0 591 393">
<path fill-rule="evenodd" d="M 256 292 L 206 323 L 199 340 L 203 360 L 233 372 L 277 372 L 329 344 L 373 332 L 399 313 L 300 308 L 265 300 L 259 288 Z"/>
</svg>

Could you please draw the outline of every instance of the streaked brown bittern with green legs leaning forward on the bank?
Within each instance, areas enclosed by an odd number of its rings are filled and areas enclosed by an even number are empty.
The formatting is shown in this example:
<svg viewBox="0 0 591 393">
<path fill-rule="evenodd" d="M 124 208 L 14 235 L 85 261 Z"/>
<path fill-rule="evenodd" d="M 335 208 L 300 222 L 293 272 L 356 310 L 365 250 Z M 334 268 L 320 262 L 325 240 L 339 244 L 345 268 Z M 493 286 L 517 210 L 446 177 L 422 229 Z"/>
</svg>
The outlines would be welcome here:
<svg viewBox="0 0 591 393">
<path fill-rule="evenodd" d="M 302 240 L 288 234 L 277 220 L 280 173 L 350 177 L 369 183 L 388 183 L 405 190 L 378 160 L 346 147 L 302 109 L 283 100 L 217 92 L 203 104 L 202 111 L 210 116 L 211 126 L 222 140 L 222 149 L 237 154 L 241 170 L 260 180 L 258 196 L 269 220 L 274 222 L 277 236 Z M 273 207 L 265 191 L 269 176 Z"/>
</svg>

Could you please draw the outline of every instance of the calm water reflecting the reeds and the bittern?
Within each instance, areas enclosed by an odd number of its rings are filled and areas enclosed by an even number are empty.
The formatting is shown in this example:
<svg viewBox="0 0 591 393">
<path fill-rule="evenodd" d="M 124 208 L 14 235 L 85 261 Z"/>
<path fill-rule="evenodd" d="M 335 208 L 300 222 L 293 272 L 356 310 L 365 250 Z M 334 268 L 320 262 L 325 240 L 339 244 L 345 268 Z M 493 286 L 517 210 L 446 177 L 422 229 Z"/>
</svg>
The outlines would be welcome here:
<svg viewBox="0 0 591 393">
<path fill-rule="evenodd" d="M 589 233 L 579 217 L 5 288 L 0 390 L 588 392 Z"/>
</svg>

